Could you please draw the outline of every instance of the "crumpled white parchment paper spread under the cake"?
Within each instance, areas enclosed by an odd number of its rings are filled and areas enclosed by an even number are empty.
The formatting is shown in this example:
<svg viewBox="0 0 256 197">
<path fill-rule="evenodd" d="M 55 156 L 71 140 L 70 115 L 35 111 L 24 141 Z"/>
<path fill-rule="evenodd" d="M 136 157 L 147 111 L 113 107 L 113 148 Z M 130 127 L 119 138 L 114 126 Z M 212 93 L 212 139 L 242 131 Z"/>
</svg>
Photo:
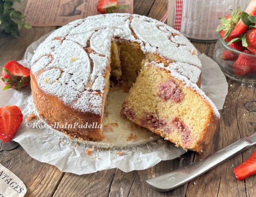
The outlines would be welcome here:
<svg viewBox="0 0 256 197">
<path fill-rule="evenodd" d="M 49 34 L 42 36 L 33 42 L 26 50 L 24 59 L 19 61 L 30 68 L 30 59 L 40 42 Z M 205 54 L 200 56 L 203 64 L 202 90 L 216 104 L 220 110 L 224 104 L 227 94 L 227 82 L 218 64 Z M 31 98 L 30 87 L 25 87 L 22 92 L 15 90 L 2 91 L 4 84 L 0 84 L 2 99 L 1 106 L 14 104 L 20 107 L 24 119 L 31 113 L 36 113 Z M 45 125 L 44 121 L 37 118 L 30 122 Z M 52 128 L 32 128 L 23 121 L 18 132 L 13 138 L 25 151 L 34 159 L 56 166 L 62 172 L 75 174 L 92 173 L 98 170 L 119 168 L 124 172 L 142 170 L 152 167 L 162 160 L 175 159 L 184 150 L 163 139 L 150 137 L 150 142 L 130 143 L 126 147 L 104 148 L 97 146 L 95 142 L 84 142 L 77 139 L 70 139 Z M 142 143 L 144 142 L 144 143 Z M 93 146 L 95 146 L 93 148 Z M 90 148 L 90 155 L 86 149 Z"/>
</svg>

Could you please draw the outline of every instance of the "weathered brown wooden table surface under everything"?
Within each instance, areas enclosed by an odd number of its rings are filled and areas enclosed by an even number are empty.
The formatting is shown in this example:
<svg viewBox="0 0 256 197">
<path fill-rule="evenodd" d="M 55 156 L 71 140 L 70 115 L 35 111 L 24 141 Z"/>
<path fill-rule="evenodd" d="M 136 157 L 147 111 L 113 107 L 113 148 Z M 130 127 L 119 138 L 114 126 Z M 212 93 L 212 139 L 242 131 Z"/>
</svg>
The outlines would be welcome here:
<svg viewBox="0 0 256 197">
<path fill-rule="evenodd" d="M 24 10 L 27 1 L 22 1 Z M 160 19 L 166 9 L 165 0 L 134 0 L 134 13 Z M 56 27 L 22 29 L 19 38 L 0 33 L 1 70 L 9 60 L 20 60 L 31 42 Z M 215 43 L 193 42 L 195 47 L 212 58 Z M 188 151 L 170 161 L 162 161 L 152 168 L 131 172 L 119 169 L 102 170 L 78 176 L 59 171 L 55 166 L 32 159 L 22 147 L 12 151 L 0 149 L 0 163 L 14 172 L 27 186 L 26 196 L 256 196 L 256 176 L 237 181 L 233 166 L 246 160 L 255 150 L 249 148 L 194 181 L 170 192 L 158 192 L 148 187 L 145 180 L 188 165 L 202 159 L 227 145 L 254 133 L 256 111 L 244 103 L 256 101 L 255 85 L 241 84 L 227 78 L 228 95 L 214 140 L 201 155 Z M 254 110 L 253 110 L 254 109 Z M 39 147 L 38 147 L 39 148 Z"/>
</svg>

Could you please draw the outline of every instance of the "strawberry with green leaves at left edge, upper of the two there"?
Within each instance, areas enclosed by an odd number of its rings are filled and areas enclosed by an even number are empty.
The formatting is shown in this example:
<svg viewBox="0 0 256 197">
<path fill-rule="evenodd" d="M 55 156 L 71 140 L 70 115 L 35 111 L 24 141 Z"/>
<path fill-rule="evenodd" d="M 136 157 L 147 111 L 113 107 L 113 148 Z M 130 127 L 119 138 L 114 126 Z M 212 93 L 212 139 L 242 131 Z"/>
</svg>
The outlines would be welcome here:
<svg viewBox="0 0 256 197">
<path fill-rule="evenodd" d="M 9 61 L 2 72 L 1 78 L 6 86 L 4 90 L 14 88 L 18 91 L 25 87 L 30 81 L 30 70 L 16 61 Z"/>
</svg>

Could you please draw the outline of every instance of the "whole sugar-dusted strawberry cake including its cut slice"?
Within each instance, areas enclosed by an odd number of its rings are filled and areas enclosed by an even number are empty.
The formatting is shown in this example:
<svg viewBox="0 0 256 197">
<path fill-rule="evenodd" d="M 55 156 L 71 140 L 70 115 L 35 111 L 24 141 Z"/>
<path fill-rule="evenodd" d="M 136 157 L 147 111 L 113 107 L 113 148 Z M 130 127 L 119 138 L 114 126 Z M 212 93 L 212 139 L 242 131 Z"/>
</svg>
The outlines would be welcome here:
<svg viewBox="0 0 256 197">
<path fill-rule="evenodd" d="M 219 112 L 200 90 L 201 62 L 180 32 L 149 17 L 105 14 L 72 21 L 42 42 L 31 60 L 31 89 L 49 124 L 97 123 L 113 83 L 129 95 L 121 114 L 184 149 L 201 151 Z M 122 116 L 121 115 L 121 116 Z M 102 128 L 59 128 L 102 140 Z"/>
</svg>

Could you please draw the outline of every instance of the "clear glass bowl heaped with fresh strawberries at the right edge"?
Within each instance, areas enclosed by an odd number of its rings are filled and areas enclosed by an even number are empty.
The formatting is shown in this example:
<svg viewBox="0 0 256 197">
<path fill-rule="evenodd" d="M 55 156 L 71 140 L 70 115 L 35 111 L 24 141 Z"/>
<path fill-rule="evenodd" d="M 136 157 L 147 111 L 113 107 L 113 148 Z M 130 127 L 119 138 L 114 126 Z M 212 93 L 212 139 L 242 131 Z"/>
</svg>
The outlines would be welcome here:
<svg viewBox="0 0 256 197">
<path fill-rule="evenodd" d="M 223 73 L 243 83 L 256 83 L 256 0 L 220 18 L 214 60 Z"/>
</svg>

